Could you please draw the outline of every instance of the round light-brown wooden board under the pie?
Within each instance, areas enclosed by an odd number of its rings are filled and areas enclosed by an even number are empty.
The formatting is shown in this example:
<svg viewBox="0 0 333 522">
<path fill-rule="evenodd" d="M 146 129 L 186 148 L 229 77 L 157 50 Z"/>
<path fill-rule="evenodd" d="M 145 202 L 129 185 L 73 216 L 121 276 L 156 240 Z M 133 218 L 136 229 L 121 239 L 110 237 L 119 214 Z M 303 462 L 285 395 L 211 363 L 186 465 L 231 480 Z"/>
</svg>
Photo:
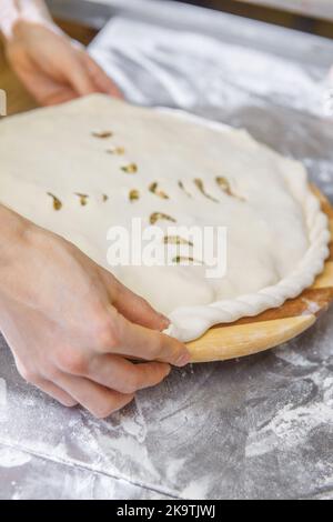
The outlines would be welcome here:
<svg viewBox="0 0 333 522">
<path fill-rule="evenodd" d="M 313 188 L 330 219 L 330 258 L 323 273 L 299 298 L 255 318 L 243 318 L 231 324 L 218 324 L 204 335 L 188 343 L 192 362 L 225 361 L 258 353 L 290 341 L 315 323 L 333 301 L 333 208 Z"/>
</svg>

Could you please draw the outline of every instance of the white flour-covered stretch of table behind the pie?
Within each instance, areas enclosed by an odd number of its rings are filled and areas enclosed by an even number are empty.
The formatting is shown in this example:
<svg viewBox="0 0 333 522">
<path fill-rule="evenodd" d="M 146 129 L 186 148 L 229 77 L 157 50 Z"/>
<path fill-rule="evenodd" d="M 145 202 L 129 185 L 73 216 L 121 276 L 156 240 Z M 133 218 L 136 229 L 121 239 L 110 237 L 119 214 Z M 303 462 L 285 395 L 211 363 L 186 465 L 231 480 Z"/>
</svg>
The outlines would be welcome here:
<svg viewBox="0 0 333 522">
<path fill-rule="evenodd" d="M 175 27 L 162 20 L 159 26 L 150 23 L 149 13 L 160 8 L 151 2 L 140 21 L 112 17 L 91 46 L 93 57 L 114 78 L 127 99 L 151 104 L 154 92 L 159 104 L 188 110 L 199 104 L 222 106 L 233 113 L 258 97 L 271 104 L 329 114 L 324 97 L 332 64 L 330 40 L 325 40 L 324 51 L 320 39 L 313 36 L 307 36 L 306 41 L 302 32 L 293 36 L 290 31 L 285 38 L 281 28 L 254 26 L 225 13 L 210 17 L 208 11 L 202 11 L 195 29 L 188 31 L 183 24 L 188 6 L 173 20 Z M 220 28 L 219 17 L 225 17 Z M 260 44 L 249 46 L 253 38 L 261 40 Z M 272 52 L 272 48 L 280 52 Z M 294 52 L 302 53 L 302 62 L 294 59 Z M 133 81 L 137 76 L 140 84 Z"/>
</svg>

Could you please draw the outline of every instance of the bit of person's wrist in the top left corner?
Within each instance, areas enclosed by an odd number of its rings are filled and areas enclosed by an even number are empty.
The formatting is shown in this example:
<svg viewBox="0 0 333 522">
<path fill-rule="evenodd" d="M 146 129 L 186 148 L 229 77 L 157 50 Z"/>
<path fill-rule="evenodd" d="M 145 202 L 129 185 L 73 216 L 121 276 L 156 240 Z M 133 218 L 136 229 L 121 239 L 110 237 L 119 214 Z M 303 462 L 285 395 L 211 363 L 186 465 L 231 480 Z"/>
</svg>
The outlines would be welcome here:
<svg viewBox="0 0 333 522">
<path fill-rule="evenodd" d="M 52 24 L 52 18 L 42 0 L 0 0 L 0 31 L 6 39 L 19 20 Z"/>
</svg>

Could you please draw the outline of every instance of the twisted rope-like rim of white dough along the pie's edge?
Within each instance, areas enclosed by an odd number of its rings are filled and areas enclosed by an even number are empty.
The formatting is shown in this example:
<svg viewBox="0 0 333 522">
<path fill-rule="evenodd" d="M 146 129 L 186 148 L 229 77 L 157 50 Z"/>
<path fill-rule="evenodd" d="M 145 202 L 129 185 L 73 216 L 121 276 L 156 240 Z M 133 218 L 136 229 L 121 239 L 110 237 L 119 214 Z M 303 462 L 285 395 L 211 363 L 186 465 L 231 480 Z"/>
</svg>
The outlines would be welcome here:
<svg viewBox="0 0 333 522">
<path fill-rule="evenodd" d="M 216 121 L 206 120 L 182 110 L 157 108 L 155 110 L 178 118 L 185 118 L 214 130 L 223 131 L 229 127 Z M 292 174 L 291 174 L 292 175 Z M 304 215 L 307 225 L 310 245 L 295 270 L 279 283 L 261 289 L 255 293 L 240 295 L 233 300 L 215 301 L 205 305 L 178 308 L 169 314 L 168 335 L 183 342 L 193 341 L 203 335 L 211 327 L 220 323 L 232 323 L 243 317 L 255 317 L 265 310 L 281 307 L 287 299 L 300 295 L 311 287 L 315 278 L 324 270 L 330 254 L 329 219 L 321 210 L 319 199 L 306 183 Z"/>
</svg>

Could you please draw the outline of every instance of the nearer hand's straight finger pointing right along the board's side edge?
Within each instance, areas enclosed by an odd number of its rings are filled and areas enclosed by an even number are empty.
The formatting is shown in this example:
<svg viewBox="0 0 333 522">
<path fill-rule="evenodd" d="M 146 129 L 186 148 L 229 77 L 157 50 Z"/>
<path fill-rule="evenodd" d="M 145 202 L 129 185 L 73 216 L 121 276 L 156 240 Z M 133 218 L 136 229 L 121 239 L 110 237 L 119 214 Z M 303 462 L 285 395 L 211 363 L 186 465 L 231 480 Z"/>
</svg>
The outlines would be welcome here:
<svg viewBox="0 0 333 522">
<path fill-rule="evenodd" d="M 176 339 L 133 324 L 123 315 L 110 310 L 110 329 L 103 343 L 97 347 L 104 353 L 118 353 L 145 361 L 168 362 L 175 367 L 184 367 L 190 362 L 186 347 Z"/>
</svg>

